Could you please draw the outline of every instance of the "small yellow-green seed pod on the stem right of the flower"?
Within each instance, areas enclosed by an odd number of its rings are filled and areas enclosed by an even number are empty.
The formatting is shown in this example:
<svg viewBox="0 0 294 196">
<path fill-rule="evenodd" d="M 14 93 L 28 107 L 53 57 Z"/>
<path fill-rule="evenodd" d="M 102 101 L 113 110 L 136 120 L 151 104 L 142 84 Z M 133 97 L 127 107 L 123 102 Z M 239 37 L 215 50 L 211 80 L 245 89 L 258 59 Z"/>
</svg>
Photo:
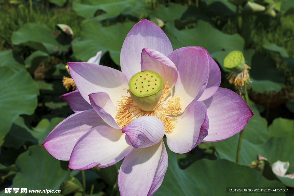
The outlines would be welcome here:
<svg viewBox="0 0 294 196">
<path fill-rule="evenodd" d="M 235 50 L 230 52 L 223 61 L 223 66 L 230 71 L 239 72 L 244 69 L 245 58 L 241 51 Z"/>
</svg>

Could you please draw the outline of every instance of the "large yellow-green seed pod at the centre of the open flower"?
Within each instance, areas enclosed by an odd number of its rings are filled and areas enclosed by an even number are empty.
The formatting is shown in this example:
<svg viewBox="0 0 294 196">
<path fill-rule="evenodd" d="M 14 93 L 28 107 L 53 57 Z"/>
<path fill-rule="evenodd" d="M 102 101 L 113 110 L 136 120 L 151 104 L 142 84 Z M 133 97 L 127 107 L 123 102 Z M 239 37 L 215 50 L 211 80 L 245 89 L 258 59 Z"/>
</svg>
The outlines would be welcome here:
<svg viewBox="0 0 294 196">
<path fill-rule="evenodd" d="M 128 83 L 131 97 L 144 111 L 152 111 L 160 100 L 163 80 L 155 71 L 141 71 Z"/>
</svg>

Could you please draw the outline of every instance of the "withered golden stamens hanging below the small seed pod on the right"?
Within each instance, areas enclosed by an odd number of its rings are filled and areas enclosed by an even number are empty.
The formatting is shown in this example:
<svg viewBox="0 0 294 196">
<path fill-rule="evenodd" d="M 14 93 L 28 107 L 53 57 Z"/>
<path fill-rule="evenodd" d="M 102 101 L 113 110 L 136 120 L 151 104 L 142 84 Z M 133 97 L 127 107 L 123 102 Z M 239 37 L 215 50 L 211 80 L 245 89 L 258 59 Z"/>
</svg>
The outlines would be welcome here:
<svg viewBox="0 0 294 196">
<path fill-rule="evenodd" d="M 244 69 L 240 72 L 230 72 L 227 75 L 227 79 L 230 84 L 234 84 L 236 88 L 243 86 L 244 82 L 251 82 L 248 69 L 251 69 L 248 65 L 244 65 Z"/>
</svg>

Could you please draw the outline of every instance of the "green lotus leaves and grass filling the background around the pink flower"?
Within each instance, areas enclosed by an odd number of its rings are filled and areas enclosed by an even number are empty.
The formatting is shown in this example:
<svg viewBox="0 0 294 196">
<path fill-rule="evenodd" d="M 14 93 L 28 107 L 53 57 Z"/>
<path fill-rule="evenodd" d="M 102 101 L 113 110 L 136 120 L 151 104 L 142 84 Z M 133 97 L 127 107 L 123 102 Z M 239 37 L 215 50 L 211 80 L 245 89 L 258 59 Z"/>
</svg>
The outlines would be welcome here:
<svg viewBox="0 0 294 196">
<path fill-rule="evenodd" d="M 187 154 L 168 151 L 168 170 L 155 195 L 225 195 L 225 187 L 287 187 L 288 193 L 273 195 L 294 195 L 294 179 L 271 170 L 281 160 L 294 172 L 293 0 L 0 0 L 0 13 L 0 190 L 81 195 L 81 172 L 41 146 L 73 113 L 60 98 L 67 92 L 62 77 L 70 77 L 65 65 L 102 50 L 100 64 L 120 70 L 123 40 L 145 18 L 163 29 L 174 50 L 206 48 L 221 68 L 221 87 L 236 92 L 241 89 L 226 80 L 223 59 L 242 51 L 251 67 L 255 114 L 244 130 L 240 164 L 238 134 Z M 257 160 L 259 154 L 268 161 Z M 119 195 L 120 164 L 86 170 L 86 193 Z"/>
</svg>

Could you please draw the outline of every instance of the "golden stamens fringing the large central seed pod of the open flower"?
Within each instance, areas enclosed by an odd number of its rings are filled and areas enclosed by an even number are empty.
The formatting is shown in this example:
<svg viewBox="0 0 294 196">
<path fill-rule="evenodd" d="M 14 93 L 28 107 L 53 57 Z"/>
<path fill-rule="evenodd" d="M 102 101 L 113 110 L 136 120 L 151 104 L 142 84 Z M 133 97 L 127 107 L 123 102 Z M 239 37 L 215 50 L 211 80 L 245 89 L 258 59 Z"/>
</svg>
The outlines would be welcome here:
<svg viewBox="0 0 294 196">
<path fill-rule="evenodd" d="M 129 93 L 128 89 L 124 90 L 128 91 Z M 178 119 L 178 117 L 174 116 L 182 112 L 182 106 L 180 104 L 181 99 L 178 97 L 178 95 L 165 101 L 170 91 L 170 88 L 166 84 L 163 87 L 162 95 L 158 104 L 156 105 L 155 109 L 150 112 L 143 111 L 141 108 L 139 108 L 131 96 L 123 96 L 121 101 L 118 101 L 117 103 L 118 112 L 116 114 L 116 118 L 118 126 L 123 128 L 132 120 L 141 116 L 154 116 L 163 122 L 165 132 L 171 133 L 176 126 L 173 120 Z"/>
</svg>

